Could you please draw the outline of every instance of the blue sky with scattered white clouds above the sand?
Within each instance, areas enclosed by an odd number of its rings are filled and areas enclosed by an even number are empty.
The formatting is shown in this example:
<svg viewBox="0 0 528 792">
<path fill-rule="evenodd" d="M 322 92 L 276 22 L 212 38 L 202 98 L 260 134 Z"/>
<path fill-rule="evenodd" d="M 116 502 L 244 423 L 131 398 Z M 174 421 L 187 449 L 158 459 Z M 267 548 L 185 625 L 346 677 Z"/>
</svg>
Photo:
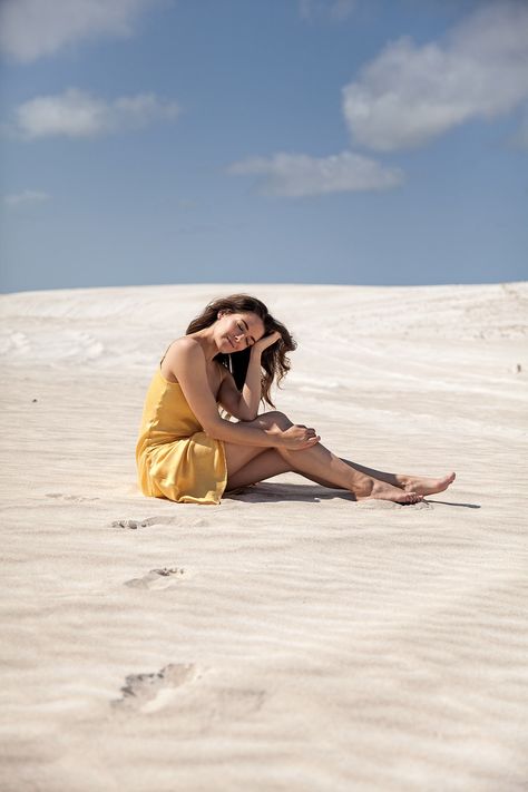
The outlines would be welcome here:
<svg viewBox="0 0 528 792">
<path fill-rule="evenodd" d="M 3 0 L 1 290 L 525 280 L 525 0 Z"/>
</svg>

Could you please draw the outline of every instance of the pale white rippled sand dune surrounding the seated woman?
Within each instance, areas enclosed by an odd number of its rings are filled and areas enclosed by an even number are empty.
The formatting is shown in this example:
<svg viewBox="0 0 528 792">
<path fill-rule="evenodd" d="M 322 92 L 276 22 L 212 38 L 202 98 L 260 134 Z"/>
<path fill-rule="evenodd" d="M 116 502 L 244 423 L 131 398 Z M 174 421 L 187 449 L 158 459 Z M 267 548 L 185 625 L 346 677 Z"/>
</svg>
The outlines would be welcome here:
<svg viewBox="0 0 528 792">
<path fill-rule="evenodd" d="M 144 498 L 157 361 L 236 287 L 3 296 L 0 789 L 527 789 L 528 285 L 246 290 L 300 342 L 277 409 L 458 479 Z"/>
</svg>

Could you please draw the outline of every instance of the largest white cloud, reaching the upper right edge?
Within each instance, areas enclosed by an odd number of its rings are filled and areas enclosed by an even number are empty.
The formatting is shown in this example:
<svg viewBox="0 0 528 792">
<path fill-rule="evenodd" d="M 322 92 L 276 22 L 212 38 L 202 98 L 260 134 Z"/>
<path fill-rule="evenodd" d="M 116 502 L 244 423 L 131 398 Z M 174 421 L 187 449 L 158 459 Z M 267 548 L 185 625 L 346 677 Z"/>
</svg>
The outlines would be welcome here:
<svg viewBox="0 0 528 792">
<path fill-rule="evenodd" d="M 528 3 L 487 4 L 443 43 L 390 45 L 343 89 L 352 139 L 391 151 L 423 145 L 476 118 L 510 113 L 528 97 Z"/>
</svg>

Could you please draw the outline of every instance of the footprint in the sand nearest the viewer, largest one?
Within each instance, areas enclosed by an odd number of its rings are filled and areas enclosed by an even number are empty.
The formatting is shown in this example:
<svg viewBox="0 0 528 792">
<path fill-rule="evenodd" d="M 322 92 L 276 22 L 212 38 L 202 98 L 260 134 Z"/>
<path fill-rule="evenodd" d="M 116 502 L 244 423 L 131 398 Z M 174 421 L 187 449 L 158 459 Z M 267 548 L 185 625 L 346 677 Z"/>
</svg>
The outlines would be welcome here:
<svg viewBox="0 0 528 792">
<path fill-rule="evenodd" d="M 157 712 L 175 700 L 178 688 L 198 676 L 199 671 L 193 663 L 166 665 L 156 674 L 130 674 L 121 687 L 121 698 L 111 704 L 118 710 Z"/>
</svg>

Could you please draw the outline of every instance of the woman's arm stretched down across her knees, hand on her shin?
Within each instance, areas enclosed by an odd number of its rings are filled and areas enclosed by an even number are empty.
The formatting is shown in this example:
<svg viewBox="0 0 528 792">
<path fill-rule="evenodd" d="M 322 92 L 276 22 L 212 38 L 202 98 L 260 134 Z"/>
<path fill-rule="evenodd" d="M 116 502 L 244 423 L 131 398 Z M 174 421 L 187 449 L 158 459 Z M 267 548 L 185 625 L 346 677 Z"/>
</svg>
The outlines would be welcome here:
<svg viewBox="0 0 528 792">
<path fill-rule="evenodd" d="M 258 429 L 221 418 L 207 380 L 204 352 L 194 339 L 179 339 L 173 344 L 172 372 L 204 431 L 216 440 L 262 448 L 283 446 L 290 450 L 310 448 L 319 441 L 314 430 L 305 427 L 293 426 L 285 431 Z"/>
</svg>

